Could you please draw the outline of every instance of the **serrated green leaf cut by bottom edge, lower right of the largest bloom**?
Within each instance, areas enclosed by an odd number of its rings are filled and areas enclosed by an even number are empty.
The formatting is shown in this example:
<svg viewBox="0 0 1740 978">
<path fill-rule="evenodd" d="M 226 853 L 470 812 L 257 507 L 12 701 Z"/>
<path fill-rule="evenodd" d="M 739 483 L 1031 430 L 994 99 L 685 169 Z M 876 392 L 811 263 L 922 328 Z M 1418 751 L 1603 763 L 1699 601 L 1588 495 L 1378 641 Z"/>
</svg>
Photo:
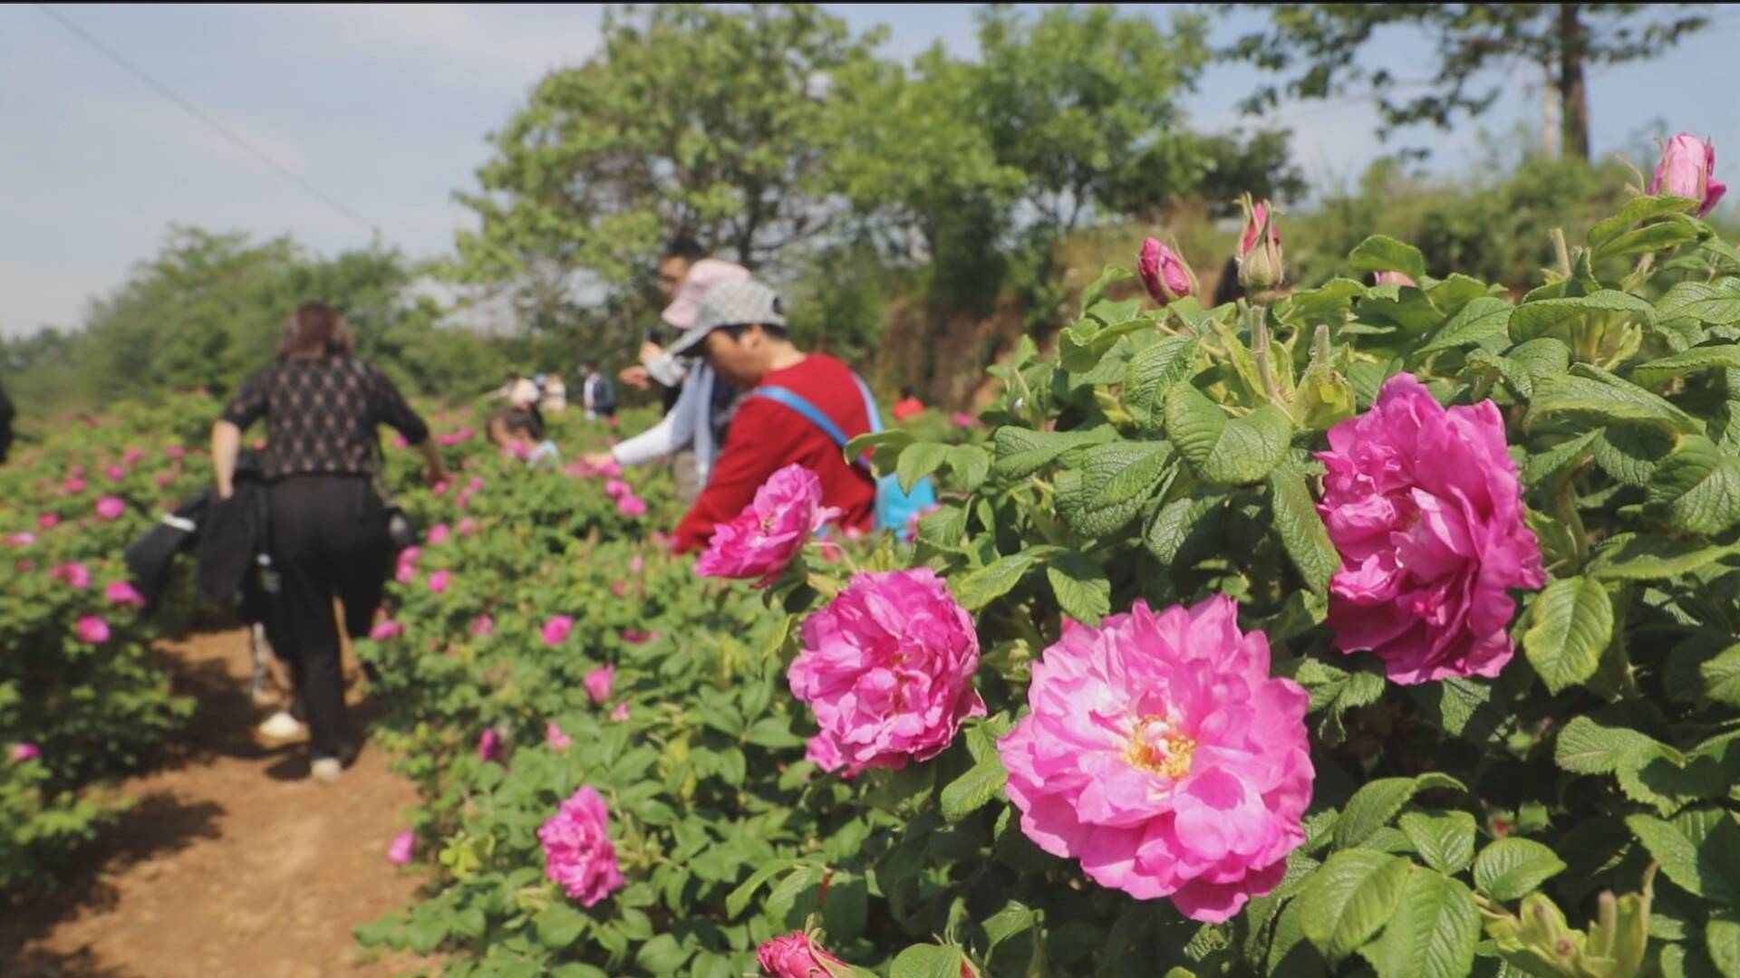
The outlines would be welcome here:
<svg viewBox="0 0 1740 978">
<path fill-rule="evenodd" d="M 1361 955 L 1378 978 L 1462 978 L 1474 968 L 1481 912 L 1460 881 L 1415 868 L 1383 936 Z"/>
</svg>

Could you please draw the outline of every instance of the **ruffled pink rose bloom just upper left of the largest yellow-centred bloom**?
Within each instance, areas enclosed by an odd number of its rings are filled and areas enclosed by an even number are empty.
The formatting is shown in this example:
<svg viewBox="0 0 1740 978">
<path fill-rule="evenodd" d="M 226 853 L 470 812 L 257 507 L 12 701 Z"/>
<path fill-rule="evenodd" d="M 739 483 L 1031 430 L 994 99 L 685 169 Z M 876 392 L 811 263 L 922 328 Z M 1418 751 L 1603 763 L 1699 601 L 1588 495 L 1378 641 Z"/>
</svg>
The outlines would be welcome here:
<svg viewBox="0 0 1740 978">
<path fill-rule="evenodd" d="M 786 677 L 816 712 L 809 759 L 828 771 L 901 767 L 943 752 L 983 717 L 973 618 L 929 567 L 858 574 L 804 621 Z"/>
</svg>

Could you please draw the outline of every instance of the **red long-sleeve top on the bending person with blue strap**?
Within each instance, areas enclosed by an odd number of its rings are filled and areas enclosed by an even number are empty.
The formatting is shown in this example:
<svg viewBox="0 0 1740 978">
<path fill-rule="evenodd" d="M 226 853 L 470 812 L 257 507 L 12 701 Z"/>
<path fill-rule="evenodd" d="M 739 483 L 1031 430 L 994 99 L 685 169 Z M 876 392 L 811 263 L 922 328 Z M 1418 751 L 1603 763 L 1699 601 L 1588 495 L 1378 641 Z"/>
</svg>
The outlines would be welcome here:
<svg viewBox="0 0 1740 978">
<path fill-rule="evenodd" d="M 870 430 L 865 400 L 853 371 L 828 357 L 811 353 L 783 371 L 769 371 L 762 386 L 783 386 L 802 395 L 833 419 L 847 437 Z M 774 472 L 797 463 L 821 480 L 821 505 L 846 512 L 840 526 L 872 529 L 875 482 L 856 465 L 847 465 L 840 445 L 790 407 L 766 397 L 745 397 L 731 419 L 726 449 L 694 501 L 677 524 L 677 550 L 706 546 L 713 526 L 731 522 L 755 499 L 755 491 Z"/>
</svg>

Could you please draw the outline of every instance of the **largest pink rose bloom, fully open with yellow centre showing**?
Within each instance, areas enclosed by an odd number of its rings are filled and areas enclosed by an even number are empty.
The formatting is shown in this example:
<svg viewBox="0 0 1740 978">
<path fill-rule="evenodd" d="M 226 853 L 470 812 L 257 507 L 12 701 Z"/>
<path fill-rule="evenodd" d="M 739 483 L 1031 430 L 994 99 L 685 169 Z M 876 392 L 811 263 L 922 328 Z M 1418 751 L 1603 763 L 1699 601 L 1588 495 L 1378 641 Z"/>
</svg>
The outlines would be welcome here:
<svg viewBox="0 0 1740 978">
<path fill-rule="evenodd" d="M 1281 882 L 1312 788 L 1310 698 L 1268 675 L 1268 639 L 1239 632 L 1237 613 L 1225 595 L 1136 602 L 1068 630 L 999 743 L 1028 839 L 1206 922 Z"/>
</svg>

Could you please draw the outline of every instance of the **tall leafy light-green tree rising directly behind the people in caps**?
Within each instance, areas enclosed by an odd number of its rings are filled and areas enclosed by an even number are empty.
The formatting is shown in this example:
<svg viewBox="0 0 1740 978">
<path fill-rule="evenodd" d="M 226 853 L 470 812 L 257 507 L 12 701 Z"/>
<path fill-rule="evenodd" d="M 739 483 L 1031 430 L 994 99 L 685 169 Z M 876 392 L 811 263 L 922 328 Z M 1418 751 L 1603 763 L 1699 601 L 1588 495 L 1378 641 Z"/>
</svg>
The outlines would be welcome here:
<svg viewBox="0 0 1740 978">
<path fill-rule="evenodd" d="M 607 12 L 599 54 L 546 75 L 491 137 L 480 188 L 458 195 L 482 228 L 459 235 L 456 273 L 545 263 L 647 285 L 673 233 L 752 268 L 816 238 L 839 212 L 821 181 L 830 78 L 872 40 L 807 3 Z"/>
</svg>

